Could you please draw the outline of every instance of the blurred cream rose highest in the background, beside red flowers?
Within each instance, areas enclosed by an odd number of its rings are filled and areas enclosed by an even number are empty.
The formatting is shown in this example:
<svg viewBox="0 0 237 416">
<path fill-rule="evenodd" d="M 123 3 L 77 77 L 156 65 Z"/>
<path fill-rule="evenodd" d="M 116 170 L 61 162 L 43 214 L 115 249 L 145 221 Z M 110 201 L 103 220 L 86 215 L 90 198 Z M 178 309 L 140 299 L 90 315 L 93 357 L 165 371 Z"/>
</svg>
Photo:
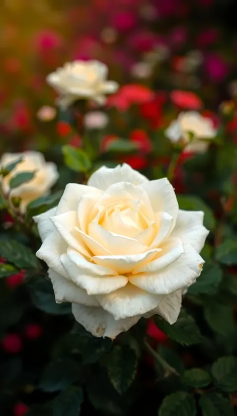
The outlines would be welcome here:
<svg viewBox="0 0 237 416">
<path fill-rule="evenodd" d="M 58 103 L 67 108 L 78 99 L 104 104 L 105 95 L 117 91 L 115 81 L 107 81 L 107 66 L 97 60 L 75 60 L 65 63 L 46 78 L 59 94 Z"/>
</svg>

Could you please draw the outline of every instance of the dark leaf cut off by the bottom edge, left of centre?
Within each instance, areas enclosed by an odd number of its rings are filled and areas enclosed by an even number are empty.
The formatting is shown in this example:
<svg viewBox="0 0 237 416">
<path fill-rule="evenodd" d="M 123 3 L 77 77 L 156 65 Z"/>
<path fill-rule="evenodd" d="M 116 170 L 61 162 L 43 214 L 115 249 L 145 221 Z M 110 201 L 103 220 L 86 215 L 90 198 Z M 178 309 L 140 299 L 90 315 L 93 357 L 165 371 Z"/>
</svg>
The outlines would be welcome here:
<svg viewBox="0 0 237 416">
<path fill-rule="evenodd" d="M 81 387 L 68 387 L 54 400 L 53 416 L 79 416 L 82 402 L 83 391 Z"/>
</svg>

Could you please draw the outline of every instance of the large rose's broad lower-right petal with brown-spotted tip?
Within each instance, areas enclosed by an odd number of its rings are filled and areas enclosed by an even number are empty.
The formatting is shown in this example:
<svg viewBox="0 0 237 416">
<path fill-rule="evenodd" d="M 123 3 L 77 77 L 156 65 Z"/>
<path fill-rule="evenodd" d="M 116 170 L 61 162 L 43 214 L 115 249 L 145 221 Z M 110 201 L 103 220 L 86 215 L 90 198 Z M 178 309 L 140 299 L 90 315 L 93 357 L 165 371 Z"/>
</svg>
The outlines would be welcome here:
<svg viewBox="0 0 237 416">
<path fill-rule="evenodd" d="M 130 275 L 130 282 L 149 293 L 163 295 L 192 285 L 201 273 L 204 260 L 190 244 L 184 244 L 184 250 L 169 266 L 157 272 Z"/>
</svg>

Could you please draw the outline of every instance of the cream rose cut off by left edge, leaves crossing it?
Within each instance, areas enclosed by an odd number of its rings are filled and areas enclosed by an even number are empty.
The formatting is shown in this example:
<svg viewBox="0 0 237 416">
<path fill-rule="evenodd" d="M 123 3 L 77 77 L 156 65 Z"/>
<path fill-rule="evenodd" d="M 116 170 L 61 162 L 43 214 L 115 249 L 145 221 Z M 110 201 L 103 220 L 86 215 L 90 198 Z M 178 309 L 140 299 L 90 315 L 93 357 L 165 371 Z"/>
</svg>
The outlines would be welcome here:
<svg viewBox="0 0 237 416">
<path fill-rule="evenodd" d="M 21 198 L 20 210 L 26 211 L 28 203 L 42 195 L 47 195 L 58 179 L 57 167 L 46 162 L 42 153 L 28 151 L 24 153 L 5 153 L 0 159 L 0 170 L 22 158 L 22 161 L 5 177 L 1 177 L 3 191 L 10 196 Z M 16 188 L 10 188 L 10 180 L 21 172 L 34 172 L 33 179 Z"/>
</svg>

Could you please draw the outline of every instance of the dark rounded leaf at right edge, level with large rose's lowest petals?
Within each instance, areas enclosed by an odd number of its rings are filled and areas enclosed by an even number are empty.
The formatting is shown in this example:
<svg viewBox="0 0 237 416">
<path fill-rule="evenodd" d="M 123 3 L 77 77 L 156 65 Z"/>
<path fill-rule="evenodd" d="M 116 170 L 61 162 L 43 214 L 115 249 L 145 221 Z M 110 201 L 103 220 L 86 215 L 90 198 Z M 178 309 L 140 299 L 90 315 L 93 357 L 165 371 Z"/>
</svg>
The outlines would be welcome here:
<svg viewBox="0 0 237 416">
<path fill-rule="evenodd" d="M 211 329 L 221 335 L 235 331 L 232 309 L 228 305 L 212 300 L 206 301 L 204 303 L 204 318 Z"/>
</svg>

